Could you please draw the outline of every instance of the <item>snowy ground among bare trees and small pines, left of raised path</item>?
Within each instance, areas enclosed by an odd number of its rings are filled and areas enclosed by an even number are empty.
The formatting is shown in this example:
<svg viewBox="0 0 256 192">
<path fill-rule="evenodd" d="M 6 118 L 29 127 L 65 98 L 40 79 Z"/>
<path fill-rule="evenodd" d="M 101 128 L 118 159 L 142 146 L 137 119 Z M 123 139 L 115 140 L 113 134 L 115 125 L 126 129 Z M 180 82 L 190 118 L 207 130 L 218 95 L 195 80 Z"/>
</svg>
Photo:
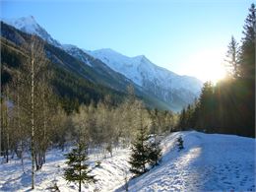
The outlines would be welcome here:
<svg viewBox="0 0 256 192">
<path fill-rule="evenodd" d="M 64 154 L 60 150 L 52 150 L 46 156 L 46 163 L 41 170 L 35 172 L 34 191 L 51 191 L 54 183 L 60 191 L 78 191 L 78 185 L 67 183 L 63 178 L 66 167 Z M 94 153 L 90 156 L 92 174 L 96 175 L 96 184 L 83 185 L 82 191 L 113 191 L 124 183 L 125 175 L 129 169 L 127 149 L 115 150 L 113 158 L 108 154 Z M 100 160 L 100 166 L 96 167 L 96 161 Z M 21 160 L 11 160 L 10 163 L 0 163 L 0 191 L 29 191 L 31 188 L 31 160 L 27 158 L 23 173 Z M 128 177 L 130 173 L 128 172 Z"/>
</svg>

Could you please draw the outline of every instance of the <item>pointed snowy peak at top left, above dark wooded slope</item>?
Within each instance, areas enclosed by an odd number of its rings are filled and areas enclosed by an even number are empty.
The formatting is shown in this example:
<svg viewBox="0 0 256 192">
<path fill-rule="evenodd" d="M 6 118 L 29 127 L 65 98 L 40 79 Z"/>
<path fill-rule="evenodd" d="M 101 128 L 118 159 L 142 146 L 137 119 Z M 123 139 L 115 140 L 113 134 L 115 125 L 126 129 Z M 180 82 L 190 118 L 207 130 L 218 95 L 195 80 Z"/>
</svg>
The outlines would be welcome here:
<svg viewBox="0 0 256 192">
<path fill-rule="evenodd" d="M 15 27 L 22 32 L 28 32 L 31 34 L 36 34 L 42 39 L 46 40 L 48 43 L 61 47 L 61 44 L 51 37 L 51 35 L 46 32 L 41 26 L 39 26 L 33 16 L 22 17 L 18 19 L 1 19 L 4 23 Z"/>
</svg>

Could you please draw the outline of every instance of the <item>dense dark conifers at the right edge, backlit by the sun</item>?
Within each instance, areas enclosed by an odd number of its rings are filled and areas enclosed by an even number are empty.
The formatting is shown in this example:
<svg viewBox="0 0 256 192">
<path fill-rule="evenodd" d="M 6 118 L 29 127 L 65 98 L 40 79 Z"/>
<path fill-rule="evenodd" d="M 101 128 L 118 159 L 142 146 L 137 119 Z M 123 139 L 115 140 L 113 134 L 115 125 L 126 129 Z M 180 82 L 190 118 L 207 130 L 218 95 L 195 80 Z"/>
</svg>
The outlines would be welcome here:
<svg viewBox="0 0 256 192">
<path fill-rule="evenodd" d="M 255 21 L 252 4 L 240 45 L 232 36 L 227 46 L 228 77 L 205 83 L 199 99 L 181 111 L 180 130 L 255 137 Z"/>
</svg>

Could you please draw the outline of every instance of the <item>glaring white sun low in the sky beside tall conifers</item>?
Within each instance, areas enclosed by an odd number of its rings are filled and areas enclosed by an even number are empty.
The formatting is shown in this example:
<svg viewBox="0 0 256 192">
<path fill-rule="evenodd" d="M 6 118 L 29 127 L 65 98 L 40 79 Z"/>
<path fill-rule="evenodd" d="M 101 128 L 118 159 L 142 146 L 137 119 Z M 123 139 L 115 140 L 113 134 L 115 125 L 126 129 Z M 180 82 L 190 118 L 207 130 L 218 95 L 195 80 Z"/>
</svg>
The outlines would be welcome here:
<svg viewBox="0 0 256 192">
<path fill-rule="evenodd" d="M 192 55 L 188 59 L 188 73 L 203 82 L 211 81 L 216 84 L 224 79 L 224 54 L 219 50 L 204 50 Z"/>
</svg>

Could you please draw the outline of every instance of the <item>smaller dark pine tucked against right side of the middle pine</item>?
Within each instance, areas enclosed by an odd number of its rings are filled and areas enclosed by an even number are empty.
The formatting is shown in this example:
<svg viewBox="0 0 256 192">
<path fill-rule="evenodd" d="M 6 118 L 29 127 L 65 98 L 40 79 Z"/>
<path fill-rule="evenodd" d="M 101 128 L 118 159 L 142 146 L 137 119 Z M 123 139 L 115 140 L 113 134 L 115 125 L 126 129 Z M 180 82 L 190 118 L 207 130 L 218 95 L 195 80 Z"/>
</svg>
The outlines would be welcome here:
<svg viewBox="0 0 256 192">
<path fill-rule="evenodd" d="M 159 165 L 161 148 L 160 148 L 160 141 L 157 140 L 156 135 L 154 137 L 154 141 L 149 143 L 148 149 L 149 149 L 149 163 L 153 166 Z"/>
</svg>

